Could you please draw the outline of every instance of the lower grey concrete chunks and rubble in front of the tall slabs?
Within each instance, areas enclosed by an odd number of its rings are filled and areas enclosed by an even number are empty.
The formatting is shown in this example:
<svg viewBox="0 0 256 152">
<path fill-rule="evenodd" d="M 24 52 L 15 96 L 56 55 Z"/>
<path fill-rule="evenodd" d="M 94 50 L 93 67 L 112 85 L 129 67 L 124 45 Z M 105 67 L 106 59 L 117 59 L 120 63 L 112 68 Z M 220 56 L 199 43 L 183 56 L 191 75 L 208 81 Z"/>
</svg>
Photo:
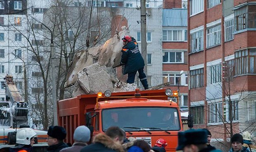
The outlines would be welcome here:
<svg viewBox="0 0 256 152">
<path fill-rule="evenodd" d="M 77 74 L 73 97 L 80 94 L 97 94 L 110 90 L 111 92 L 133 91 L 137 85 L 121 82 L 116 77 L 116 73 L 112 67 L 100 66 L 95 63 L 85 67 L 83 71 Z"/>
</svg>

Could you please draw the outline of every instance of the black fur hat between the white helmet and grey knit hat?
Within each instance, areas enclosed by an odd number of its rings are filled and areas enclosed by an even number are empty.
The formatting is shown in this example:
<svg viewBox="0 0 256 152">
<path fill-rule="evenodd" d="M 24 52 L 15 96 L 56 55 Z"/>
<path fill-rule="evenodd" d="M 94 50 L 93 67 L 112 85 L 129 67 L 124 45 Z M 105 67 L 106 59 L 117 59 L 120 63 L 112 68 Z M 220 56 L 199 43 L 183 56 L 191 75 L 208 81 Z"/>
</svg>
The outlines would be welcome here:
<svg viewBox="0 0 256 152">
<path fill-rule="evenodd" d="M 63 140 L 66 138 L 66 130 L 60 126 L 50 126 L 47 135 L 59 140 Z"/>
</svg>

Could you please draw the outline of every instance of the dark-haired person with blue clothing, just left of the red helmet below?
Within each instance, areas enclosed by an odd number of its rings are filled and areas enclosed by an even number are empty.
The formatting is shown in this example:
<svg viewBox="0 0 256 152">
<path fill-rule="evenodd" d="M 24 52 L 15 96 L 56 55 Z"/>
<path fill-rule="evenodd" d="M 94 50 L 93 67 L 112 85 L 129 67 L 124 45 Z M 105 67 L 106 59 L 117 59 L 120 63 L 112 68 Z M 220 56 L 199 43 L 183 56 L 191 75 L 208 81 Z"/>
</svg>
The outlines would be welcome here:
<svg viewBox="0 0 256 152">
<path fill-rule="evenodd" d="M 136 140 L 128 152 L 150 152 L 151 147 L 144 140 Z"/>
</svg>

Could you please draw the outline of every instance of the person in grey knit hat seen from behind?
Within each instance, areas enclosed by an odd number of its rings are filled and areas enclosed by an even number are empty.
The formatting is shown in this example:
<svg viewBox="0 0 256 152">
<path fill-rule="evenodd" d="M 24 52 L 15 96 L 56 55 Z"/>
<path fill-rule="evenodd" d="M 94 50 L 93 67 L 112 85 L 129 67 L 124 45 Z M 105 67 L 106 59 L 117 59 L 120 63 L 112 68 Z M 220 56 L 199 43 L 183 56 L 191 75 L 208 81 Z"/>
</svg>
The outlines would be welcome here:
<svg viewBox="0 0 256 152">
<path fill-rule="evenodd" d="M 73 134 L 74 143 L 71 147 L 64 148 L 59 152 L 80 152 L 90 141 L 90 129 L 86 126 L 79 126 Z"/>
</svg>

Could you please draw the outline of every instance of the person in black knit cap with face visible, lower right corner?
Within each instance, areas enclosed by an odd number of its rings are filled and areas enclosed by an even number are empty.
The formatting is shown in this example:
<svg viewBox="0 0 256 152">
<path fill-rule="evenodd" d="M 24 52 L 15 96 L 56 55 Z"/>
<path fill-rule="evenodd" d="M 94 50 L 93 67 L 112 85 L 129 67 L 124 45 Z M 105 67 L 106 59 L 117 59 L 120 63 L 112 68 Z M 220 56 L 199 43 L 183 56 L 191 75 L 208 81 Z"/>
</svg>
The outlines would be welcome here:
<svg viewBox="0 0 256 152">
<path fill-rule="evenodd" d="M 233 134 L 230 138 L 231 148 L 229 152 L 250 152 L 249 148 L 244 147 L 243 136 L 240 134 Z"/>
</svg>

